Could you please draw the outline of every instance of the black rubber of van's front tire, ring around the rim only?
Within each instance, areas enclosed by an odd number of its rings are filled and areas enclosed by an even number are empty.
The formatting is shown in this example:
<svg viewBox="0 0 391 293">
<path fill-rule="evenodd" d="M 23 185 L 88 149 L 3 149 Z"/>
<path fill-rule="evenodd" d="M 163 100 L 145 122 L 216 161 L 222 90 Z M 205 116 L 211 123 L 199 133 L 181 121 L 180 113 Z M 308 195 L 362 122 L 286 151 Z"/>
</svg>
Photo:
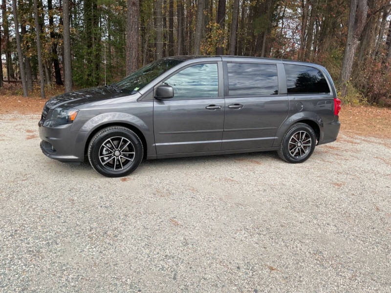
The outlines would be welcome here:
<svg viewBox="0 0 391 293">
<path fill-rule="evenodd" d="M 109 138 L 115 136 L 122 136 L 130 140 L 134 146 L 134 159 L 130 166 L 123 170 L 114 171 L 105 168 L 99 160 L 99 149 L 102 144 Z M 89 145 L 88 159 L 91 166 L 100 174 L 108 177 L 122 177 L 133 172 L 141 163 L 143 159 L 143 146 L 139 137 L 131 130 L 126 129 L 109 129 L 93 139 Z"/>
</svg>

